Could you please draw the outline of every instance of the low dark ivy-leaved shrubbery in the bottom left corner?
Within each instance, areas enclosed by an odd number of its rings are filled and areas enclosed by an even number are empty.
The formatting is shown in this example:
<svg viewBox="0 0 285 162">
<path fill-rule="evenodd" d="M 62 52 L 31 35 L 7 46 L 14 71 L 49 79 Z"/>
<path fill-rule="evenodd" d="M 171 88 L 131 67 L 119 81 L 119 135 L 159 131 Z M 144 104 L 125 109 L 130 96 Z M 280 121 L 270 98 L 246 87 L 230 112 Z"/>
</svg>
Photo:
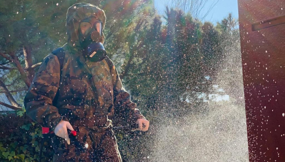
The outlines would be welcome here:
<svg viewBox="0 0 285 162">
<path fill-rule="evenodd" d="M 22 111 L 0 116 L 0 159 L 3 162 L 38 161 L 42 132 Z M 50 161 L 51 148 L 43 149 L 43 161 Z M 45 155 L 47 157 L 45 157 Z"/>
</svg>

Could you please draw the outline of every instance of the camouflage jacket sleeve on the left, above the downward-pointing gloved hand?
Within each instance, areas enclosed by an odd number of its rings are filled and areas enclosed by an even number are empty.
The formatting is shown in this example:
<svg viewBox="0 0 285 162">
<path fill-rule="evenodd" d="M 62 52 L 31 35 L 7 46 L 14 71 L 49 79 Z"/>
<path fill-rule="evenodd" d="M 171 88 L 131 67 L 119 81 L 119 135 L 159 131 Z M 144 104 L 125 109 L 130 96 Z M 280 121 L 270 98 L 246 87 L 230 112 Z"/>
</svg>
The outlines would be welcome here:
<svg viewBox="0 0 285 162">
<path fill-rule="evenodd" d="M 59 82 L 59 60 L 57 56 L 49 54 L 44 58 L 24 98 L 27 115 L 40 125 L 52 130 L 62 119 L 68 121 L 65 116 L 58 113 L 58 108 L 52 105 Z"/>
</svg>

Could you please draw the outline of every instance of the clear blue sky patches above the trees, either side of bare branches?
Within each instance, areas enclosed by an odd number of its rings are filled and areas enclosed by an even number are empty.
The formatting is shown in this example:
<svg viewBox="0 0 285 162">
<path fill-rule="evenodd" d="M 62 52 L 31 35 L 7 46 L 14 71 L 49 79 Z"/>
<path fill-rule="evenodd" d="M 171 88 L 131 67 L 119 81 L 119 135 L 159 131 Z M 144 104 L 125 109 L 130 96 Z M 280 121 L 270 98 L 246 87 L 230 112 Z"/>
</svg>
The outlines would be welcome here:
<svg viewBox="0 0 285 162">
<path fill-rule="evenodd" d="M 154 0 L 155 8 L 159 14 L 164 13 L 164 4 L 167 1 L 168 0 Z M 205 6 L 204 12 L 207 11 L 211 3 L 213 3 L 213 0 L 209 0 Z M 221 21 L 224 17 L 227 17 L 229 13 L 232 13 L 234 18 L 238 18 L 239 14 L 237 0 L 219 0 L 204 21 L 211 21 L 212 23 L 216 24 L 217 21 Z"/>
</svg>

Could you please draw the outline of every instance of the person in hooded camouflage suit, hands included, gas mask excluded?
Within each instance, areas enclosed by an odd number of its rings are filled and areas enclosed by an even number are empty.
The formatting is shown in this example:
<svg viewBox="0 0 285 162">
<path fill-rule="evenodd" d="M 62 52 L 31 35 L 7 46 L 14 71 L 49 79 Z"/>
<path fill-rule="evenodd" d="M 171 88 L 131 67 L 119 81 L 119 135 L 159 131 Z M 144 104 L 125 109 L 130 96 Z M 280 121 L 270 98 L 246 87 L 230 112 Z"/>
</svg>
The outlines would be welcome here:
<svg viewBox="0 0 285 162">
<path fill-rule="evenodd" d="M 83 57 L 83 47 L 78 41 L 79 24 L 90 17 L 102 21 L 104 29 L 106 16 L 97 6 L 77 3 L 68 9 L 68 42 L 63 46 L 62 71 L 56 55 L 46 56 L 24 99 L 27 115 L 55 132 L 54 162 L 121 162 L 113 124 L 137 123 L 142 131 L 149 126 L 123 88 L 112 61 L 106 57 L 91 62 Z M 103 44 L 104 40 L 102 33 L 99 41 Z M 77 131 L 77 142 L 72 139 L 70 142 L 68 129 Z"/>
</svg>

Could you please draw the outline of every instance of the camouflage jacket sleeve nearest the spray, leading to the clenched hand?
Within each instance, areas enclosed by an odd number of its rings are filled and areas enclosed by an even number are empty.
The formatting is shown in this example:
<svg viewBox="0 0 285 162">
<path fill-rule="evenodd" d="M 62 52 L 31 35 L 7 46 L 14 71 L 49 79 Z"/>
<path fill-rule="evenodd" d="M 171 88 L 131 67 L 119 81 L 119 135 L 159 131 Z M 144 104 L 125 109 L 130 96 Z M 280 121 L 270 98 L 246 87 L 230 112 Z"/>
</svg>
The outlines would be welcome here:
<svg viewBox="0 0 285 162">
<path fill-rule="evenodd" d="M 130 100 L 130 94 L 123 88 L 119 73 L 114 64 L 111 69 L 113 91 L 114 91 L 114 119 L 126 124 L 132 124 L 139 118 L 146 119 L 137 104 Z"/>
</svg>

